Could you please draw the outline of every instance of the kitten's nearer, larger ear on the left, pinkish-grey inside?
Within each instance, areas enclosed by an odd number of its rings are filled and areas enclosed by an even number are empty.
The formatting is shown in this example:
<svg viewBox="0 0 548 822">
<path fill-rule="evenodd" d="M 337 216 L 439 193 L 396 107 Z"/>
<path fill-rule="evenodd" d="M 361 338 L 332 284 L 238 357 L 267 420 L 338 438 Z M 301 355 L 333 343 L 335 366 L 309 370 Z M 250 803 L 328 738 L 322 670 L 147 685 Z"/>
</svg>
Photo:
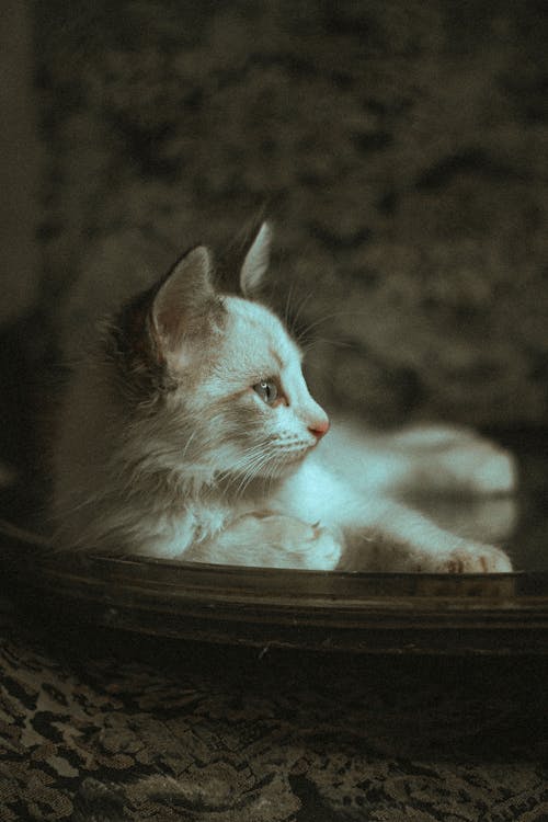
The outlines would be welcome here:
<svg viewBox="0 0 548 822">
<path fill-rule="evenodd" d="M 208 324 L 218 306 L 212 284 L 212 259 L 204 246 L 189 251 L 171 270 L 152 304 L 152 322 L 163 347 L 174 351 Z"/>
</svg>

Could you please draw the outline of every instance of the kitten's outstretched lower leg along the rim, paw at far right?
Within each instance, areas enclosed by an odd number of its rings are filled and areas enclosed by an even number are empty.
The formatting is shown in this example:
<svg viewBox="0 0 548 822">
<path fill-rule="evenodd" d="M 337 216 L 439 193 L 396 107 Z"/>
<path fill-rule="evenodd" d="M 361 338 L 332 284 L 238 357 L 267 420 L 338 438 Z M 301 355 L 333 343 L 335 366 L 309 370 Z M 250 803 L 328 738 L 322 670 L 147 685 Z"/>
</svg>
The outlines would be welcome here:
<svg viewBox="0 0 548 822">
<path fill-rule="evenodd" d="M 372 514 L 369 506 L 367 525 L 355 523 L 345 529 L 350 557 L 343 567 L 432 573 L 512 571 L 509 557 L 499 548 L 449 534 L 404 505 L 379 503 Z"/>
</svg>

